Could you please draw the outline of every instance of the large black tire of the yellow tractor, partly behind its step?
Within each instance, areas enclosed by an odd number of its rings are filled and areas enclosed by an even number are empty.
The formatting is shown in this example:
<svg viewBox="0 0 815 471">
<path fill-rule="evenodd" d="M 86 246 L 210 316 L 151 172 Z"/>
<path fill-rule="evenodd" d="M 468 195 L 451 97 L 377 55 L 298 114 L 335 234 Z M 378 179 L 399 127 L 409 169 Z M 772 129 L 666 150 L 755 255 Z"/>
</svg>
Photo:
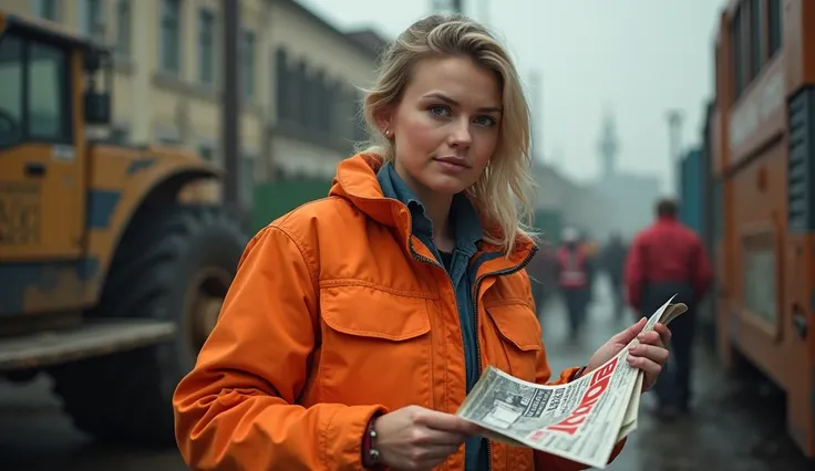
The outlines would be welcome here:
<svg viewBox="0 0 815 471">
<path fill-rule="evenodd" d="M 54 368 L 54 393 L 80 430 L 103 440 L 175 443 L 172 398 L 195 365 L 248 238 L 214 208 L 142 210 L 89 316 L 172 321 L 173 342 Z"/>
</svg>

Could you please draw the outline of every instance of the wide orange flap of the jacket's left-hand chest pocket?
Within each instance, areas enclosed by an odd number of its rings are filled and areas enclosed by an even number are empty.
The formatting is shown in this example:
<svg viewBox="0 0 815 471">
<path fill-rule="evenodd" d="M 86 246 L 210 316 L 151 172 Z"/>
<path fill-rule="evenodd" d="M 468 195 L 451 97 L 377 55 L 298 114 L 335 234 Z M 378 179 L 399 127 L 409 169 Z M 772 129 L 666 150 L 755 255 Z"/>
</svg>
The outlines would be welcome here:
<svg viewBox="0 0 815 471">
<path fill-rule="evenodd" d="M 430 332 L 426 301 L 370 286 L 320 290 L 322 320 L 348 335 L 401 342 Z"/>
</svg>

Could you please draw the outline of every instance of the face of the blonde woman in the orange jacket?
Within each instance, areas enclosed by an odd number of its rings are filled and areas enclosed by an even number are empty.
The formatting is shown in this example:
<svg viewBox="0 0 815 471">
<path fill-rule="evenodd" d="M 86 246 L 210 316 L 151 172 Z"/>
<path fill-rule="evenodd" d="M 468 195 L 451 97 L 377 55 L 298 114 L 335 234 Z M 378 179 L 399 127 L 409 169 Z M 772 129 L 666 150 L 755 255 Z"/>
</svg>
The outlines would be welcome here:
<svg viewBox="0 0 815 471">
<path fill-rule="evenodd" d="M 394 140 L 396 172 L 422 200 L 467 189 L 495 151 L 501 109 L 493 72 L 468 57 L 420 61 L 381 121 Z"/>
</svg>

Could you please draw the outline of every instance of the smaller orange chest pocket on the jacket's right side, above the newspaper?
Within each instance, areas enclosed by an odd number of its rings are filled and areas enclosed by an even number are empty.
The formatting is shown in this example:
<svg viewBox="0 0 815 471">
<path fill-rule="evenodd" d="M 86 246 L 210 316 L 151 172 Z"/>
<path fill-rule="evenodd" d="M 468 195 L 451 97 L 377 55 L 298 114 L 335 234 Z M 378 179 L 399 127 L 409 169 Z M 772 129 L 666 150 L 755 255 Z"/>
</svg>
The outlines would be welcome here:
<svg viewBox="0 0 815 471">
<path fill-rule="evenodd" d="M 525 304 L 504 304 L 486 307 L 487 315 L 498 334 L 503 355 L 495 355 L 496 366 L 520 379 L 535 383 L 538 355 L 543 349 L 540 325 L 535 313 Z"/>
</svg>

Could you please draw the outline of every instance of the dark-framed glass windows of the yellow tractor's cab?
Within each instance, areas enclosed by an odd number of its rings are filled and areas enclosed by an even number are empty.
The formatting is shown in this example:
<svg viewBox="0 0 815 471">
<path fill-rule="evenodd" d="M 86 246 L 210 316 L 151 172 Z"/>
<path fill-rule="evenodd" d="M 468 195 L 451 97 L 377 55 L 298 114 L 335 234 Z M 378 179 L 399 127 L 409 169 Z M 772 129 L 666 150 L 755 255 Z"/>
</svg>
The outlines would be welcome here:
<svg viewBox="0 0 815 471">
<path fill-rule="evenodd" d="M 70 144 L 68 53 L 49 43 L 0 39 L 0 147 Z"/>
</svg>

